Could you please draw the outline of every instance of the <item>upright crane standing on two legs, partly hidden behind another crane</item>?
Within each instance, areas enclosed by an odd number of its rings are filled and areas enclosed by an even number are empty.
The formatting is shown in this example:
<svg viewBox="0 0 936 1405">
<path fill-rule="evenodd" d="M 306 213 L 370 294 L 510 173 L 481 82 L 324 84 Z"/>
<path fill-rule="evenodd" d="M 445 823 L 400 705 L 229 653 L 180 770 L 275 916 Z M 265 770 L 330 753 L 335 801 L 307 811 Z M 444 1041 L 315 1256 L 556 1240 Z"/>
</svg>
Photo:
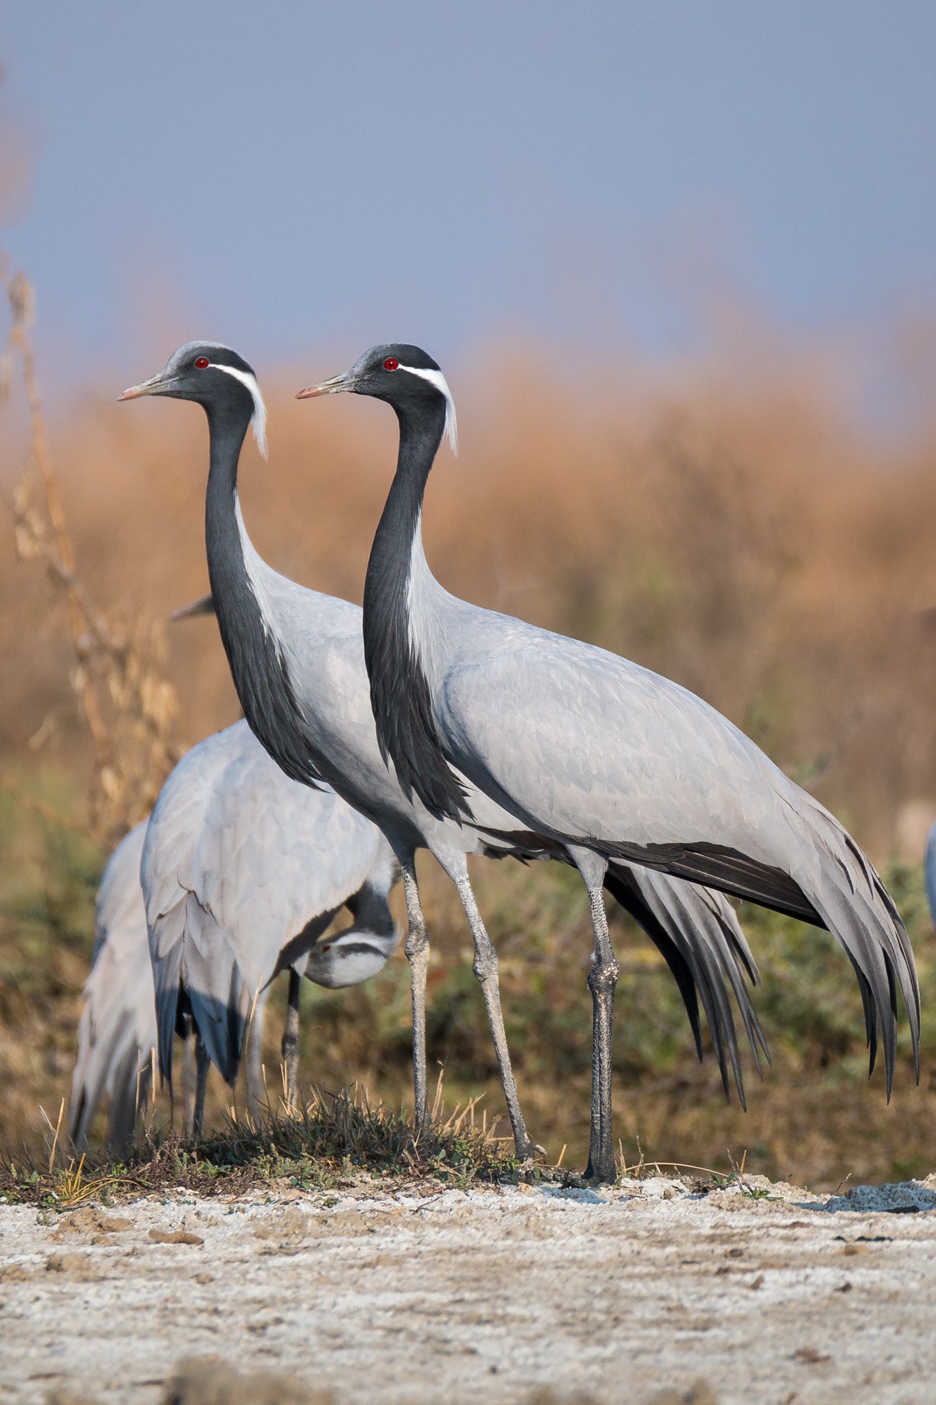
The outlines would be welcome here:
<svg viewBox="0 0 936 1405">
<path fill-rule="evenodd" d="M 466 856 L 521 858 L 574 854 L 563 842 L 519 833 L 512 813 L 472 791 L 474 823 L 441 815 L 414 798 L 385 764 L 370 711 L 358 606 L 307 590 L 272 570 L 255 551 L 240 511 L 237 469 L 253 423 L 265 451 L 265 407 L 253 368 L 215 343 L 180 347 L 157 375 L 121 399 L 168 396 L 195 400 L 209 426 L 205 545 L 215 611 L 234 687 L 250 728 L 293 780 L 333 785 L 349 805 L 380 826 L 403 871 L 408 933 L 406 954 L 413 986 L 415 1116 L 428 1125 L 425 1079 L 425 972 L 428 933 L 415 880 L 415 853 L 429 849 L 455 882 L 474 943 L 473 969 L 484 993 L 498 1069 L 516 1151 L 536 1151 L 516 1096 L 497 982 L 497 954 L 469 882 Z M 615 857 L 603 874 L 613 896 L 640 922 L 665 957 L 702 1055 L 697 996 L 702 999 L 726 1090 L 728 1064 L 741 1097 L 742 1080 L 728 989 L 734 991 L 748 1038 L 766 1052 L 744 976 L 756 968 L 737 917 L 721 896 L 678 878 L 634 868 Z"/>
</svg>

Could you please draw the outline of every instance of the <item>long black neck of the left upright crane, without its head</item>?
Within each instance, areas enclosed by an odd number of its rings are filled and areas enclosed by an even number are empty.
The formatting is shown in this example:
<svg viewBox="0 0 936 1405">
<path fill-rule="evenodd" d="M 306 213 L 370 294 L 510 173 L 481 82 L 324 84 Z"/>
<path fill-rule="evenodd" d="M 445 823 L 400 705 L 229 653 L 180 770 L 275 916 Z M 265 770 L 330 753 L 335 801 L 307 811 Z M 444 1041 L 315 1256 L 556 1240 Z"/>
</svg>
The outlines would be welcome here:
<svg viewBox="0 0 936 1405">
<path fill-rule="evenodd" d="M 244 717 L 286 776 L 305 784 L 321 777 L 305 736 L 302 710 L 272 621 L 264 620 L 251 584 L 237 521 L 237 462 L 250 409 L 206 406 L 210 466 L 205 496 L 208 576 L 222 643 Z"/>
</svg>

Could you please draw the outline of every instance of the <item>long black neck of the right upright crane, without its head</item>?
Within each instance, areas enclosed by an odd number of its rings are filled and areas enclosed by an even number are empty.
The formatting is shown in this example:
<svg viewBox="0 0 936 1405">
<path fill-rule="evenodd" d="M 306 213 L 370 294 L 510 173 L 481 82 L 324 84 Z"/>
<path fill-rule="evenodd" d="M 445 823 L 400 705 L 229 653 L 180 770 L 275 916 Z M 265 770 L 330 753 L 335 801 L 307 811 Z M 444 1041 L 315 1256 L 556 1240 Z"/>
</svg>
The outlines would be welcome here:
<svg viewBox="0 0 936 1405">
<path fill-rule="evenodd" d="M 420 797 L 436 819 L 472 819 L 432 717 L 429 684 L 410 631 L 408 584 L 422 496 L 445 429 L 445 402 L 396 406 L 397 471 L 377 525 L 363 584 L 363 656 L 383 759 L 404 795 Z"/>
</svg>

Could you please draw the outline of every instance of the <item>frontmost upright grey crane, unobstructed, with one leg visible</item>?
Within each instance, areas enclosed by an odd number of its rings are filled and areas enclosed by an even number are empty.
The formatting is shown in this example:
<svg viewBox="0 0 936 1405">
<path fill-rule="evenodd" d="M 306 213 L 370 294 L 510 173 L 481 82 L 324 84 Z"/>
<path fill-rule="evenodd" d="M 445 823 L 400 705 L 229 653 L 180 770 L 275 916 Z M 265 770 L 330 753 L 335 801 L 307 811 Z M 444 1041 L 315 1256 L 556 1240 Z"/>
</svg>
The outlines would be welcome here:
<svg viewBox="0 0 936 1405">
<path fill-rule="evenodd" d="M 377 346 L 307 396 L 351 391 L 396 412 L 400 447 L 363 593 L 363 646 L 382 753 L 439 818 L 488 821 L 476 794 L 561 844 L 588 889 L 595 957 L 588 1175 L 615 1175 L 610 1033 L 619 967 L 602 882 L 626 860 L 827 927 L 855 967 L 874 1068 L 890 1097 L 897 986 L 919 1076 L 919 986 L 897 909 L 839 822 L 714 708 L 594 645 L 449 594 L 422 551 L 422 497 L 455 406 L 439 365 Z M 476 791 L 469 791 L 469 784 Z"/>
</svg>

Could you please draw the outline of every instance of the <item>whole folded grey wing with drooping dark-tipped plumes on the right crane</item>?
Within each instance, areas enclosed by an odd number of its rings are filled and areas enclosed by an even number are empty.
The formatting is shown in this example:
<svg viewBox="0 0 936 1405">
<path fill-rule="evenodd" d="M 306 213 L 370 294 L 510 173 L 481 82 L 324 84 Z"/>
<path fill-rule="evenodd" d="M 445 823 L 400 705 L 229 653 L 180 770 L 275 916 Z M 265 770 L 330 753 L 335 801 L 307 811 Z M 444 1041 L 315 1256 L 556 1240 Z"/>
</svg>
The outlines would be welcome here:
<svg viewBox="0 0 936 1405">
<path fill-rule="evenodd" d="M 434 693 L 446 757 L 530 829 L 828 927 L 856 971 L 890 1090 L 914 955 L 855 840 L 702 698 L 491 611 L 450 621 Z M 460 631 L 460 638 L 459 638 Z"/>
</svg>

